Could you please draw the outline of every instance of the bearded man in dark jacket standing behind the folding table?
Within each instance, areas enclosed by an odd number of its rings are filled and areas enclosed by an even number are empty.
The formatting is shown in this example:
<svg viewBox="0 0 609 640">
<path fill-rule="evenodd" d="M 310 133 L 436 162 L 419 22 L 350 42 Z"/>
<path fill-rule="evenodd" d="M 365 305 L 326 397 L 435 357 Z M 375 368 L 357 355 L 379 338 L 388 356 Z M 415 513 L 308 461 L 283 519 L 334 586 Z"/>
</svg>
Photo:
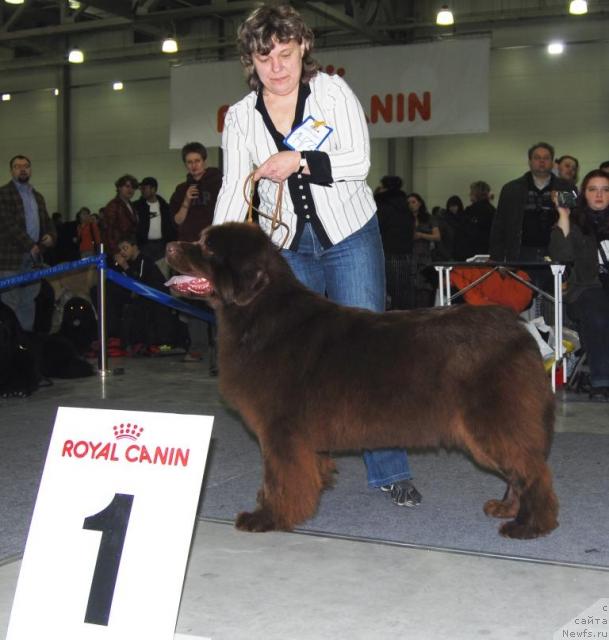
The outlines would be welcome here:
<svg viewBox="0 0 609 640">
<path fill-rule="evenodd" d="M 572 185 L 552 173 L 554 147 L 538 142 L 528 151 L 529 171 L 501 189 L 491 228 L 491 259 L 498 262 L 543 262 L 557 219 L 552 191 Z"/>
</svg>

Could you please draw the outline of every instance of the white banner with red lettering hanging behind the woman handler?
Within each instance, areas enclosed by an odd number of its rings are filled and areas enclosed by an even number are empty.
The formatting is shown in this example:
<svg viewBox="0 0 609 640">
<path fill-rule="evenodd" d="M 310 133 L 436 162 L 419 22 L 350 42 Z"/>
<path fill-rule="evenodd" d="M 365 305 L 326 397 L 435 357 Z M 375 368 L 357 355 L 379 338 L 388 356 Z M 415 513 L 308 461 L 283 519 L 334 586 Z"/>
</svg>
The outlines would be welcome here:
<svg viewBox="0 0 609 640">
<path fill-rule="evenodd" d="M 488 38 L 324 50 L 315 58 L 355 91 L 373 138 L 489 130 Z M 246 93 L 238 61 L 173 68 L 170 147 L 219 146 L 226 110 Z"/>
</svg>

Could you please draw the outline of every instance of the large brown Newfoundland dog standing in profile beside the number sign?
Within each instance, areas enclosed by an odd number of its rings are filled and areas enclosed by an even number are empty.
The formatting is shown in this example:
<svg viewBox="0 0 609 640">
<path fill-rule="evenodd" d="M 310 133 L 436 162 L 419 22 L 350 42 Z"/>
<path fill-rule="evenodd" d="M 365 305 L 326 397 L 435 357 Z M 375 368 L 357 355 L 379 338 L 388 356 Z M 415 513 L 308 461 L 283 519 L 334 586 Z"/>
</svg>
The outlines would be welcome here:
<svg viewBox="0 0 609 640">
<path fill-rule="evenodd" d="M 292 529 L 332 483 L 335 451 L 463 449 L 507 481 L 487 515 L 535 538 L 558 526 L 546 458 L 554 398 L 534 339 L 502 307 L 372 313 L 341 307 L 292 275 L 253 224 L 208 228 L 167 246 L 218 319 L 220 391 L 264 461 L 245 531 Z"/>
</svg>

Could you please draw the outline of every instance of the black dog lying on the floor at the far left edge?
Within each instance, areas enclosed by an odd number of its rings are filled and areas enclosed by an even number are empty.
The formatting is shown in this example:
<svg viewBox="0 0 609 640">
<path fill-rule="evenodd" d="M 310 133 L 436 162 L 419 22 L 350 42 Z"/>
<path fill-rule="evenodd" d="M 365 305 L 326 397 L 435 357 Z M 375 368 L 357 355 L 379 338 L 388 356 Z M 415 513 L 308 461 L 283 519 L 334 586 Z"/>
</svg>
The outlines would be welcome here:
<svg viewBox="0 0 609 640">
<path fill-rule="evenodd" d="M 94 375 L 70 340 L 23 331 L 14 311 L 0 302 L 0 397 L 27 397 L 48 378 Z"/>
</svg>

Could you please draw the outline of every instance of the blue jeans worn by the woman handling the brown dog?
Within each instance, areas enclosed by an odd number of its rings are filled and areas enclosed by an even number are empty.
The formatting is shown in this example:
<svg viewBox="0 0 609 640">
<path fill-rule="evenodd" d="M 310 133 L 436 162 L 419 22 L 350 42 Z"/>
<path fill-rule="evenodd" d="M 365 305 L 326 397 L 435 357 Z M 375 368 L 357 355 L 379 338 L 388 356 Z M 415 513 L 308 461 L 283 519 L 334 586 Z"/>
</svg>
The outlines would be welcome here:
<svg viewBox="0 0 609 640">
<path fill-rule="evenodd" d="M 385 259 L 376 216 L 329 249 L 321 246 L 307 223 L 298 248 L 284 249 L 282 255 L 309 289 L 347 307 L 385 310 Z M 412 478 L 401 449 L 365 451 L 364 461 L 371 487 Z"/>
</svg>

